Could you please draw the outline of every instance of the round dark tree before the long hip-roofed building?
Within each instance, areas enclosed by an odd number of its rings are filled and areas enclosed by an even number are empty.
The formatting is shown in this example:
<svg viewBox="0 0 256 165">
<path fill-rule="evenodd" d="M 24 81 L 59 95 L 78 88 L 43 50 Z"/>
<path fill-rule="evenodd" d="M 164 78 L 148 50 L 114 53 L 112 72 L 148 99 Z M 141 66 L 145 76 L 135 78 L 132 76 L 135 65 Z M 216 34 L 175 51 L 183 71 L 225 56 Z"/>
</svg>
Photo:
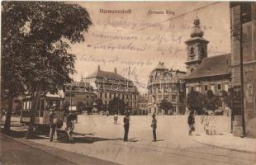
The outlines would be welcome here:
<svg viewBox="0 0 256 165">
<path fill-rule="evenodd" d="M 120 113 L 124 115 L 126 113 L 126 103 L 119 97 L 115 97 L 113 100 L 109 101 L 108 107 L 111 114 Z"/>
</svg>

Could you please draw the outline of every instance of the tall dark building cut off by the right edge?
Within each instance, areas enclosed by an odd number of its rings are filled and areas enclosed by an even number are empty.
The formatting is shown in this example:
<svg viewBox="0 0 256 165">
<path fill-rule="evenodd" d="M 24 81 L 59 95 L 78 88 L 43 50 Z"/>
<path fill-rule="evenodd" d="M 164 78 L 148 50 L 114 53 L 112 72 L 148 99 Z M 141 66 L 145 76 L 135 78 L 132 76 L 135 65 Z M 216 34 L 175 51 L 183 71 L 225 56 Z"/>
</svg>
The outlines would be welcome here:
<svg viewBox="0 0 256 165">
<path fill-rule="evenodd" d="M 256 138 L 256 2 L 230 2 L 230 18 L 233 133 Z"/>
</svg>

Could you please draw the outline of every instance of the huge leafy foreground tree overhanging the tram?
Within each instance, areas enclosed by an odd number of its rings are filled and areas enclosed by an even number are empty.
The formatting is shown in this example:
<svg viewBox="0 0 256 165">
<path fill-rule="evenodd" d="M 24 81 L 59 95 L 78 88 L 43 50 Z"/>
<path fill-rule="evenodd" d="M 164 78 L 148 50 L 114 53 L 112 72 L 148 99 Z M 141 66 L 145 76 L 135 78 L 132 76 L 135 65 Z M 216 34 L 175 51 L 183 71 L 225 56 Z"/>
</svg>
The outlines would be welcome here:
<svg viewBox="0 0 256 165">
<path fill-rule="evenodd" d="M 40 95 L 72 81 L 75 55 L 68 53 L 69 42 L 84 41 L 91 25 L 87 10 L 76 4 L 2 2 L 2 87 L 9 87 L 11 99 L 25 90 L 33 98 L 26 138 L 32 137 Z"/>
</svg>

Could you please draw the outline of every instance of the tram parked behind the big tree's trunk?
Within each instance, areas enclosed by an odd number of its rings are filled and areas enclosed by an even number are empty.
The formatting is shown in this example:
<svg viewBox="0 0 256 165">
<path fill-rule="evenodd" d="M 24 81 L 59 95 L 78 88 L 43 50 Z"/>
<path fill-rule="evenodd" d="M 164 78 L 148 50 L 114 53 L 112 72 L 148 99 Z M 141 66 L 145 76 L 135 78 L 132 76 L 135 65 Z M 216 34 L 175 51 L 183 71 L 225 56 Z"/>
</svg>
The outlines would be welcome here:
<svg viewBox="0 0 256 165">
<path fill-rule="evenodd" d="M 21 125 L 28 125 L 30 123 L 31 117 L 31 106 L 32 98 L 31 96 L 26 96 L 22 99 L 23 107 L 21 110 Z M 64 98 L 59 95 L 46 94 L 40 97 L 40 103 L 36 108 L 35 125 L 36 126 L 46 126 L 50 123 L 50 107 L 55 107 L 55 115 L 58 120 L 58 126 L 61 127 L 64 121 Z"/>
</svg>

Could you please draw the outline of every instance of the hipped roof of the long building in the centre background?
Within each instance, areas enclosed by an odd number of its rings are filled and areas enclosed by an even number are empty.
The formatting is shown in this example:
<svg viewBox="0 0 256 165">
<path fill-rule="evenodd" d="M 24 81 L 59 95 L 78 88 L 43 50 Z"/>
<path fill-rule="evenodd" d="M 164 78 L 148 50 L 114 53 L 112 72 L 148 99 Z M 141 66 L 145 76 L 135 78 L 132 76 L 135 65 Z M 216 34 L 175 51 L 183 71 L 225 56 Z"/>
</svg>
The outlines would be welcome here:
<svg viewBox="0 0 256 165">
<path fill-rule="evenodd" d="M 120 80 L 126 80 L 126 78 L 122 77 L 118 73 L 112 73 L 107 71 L 98 70 L 95 73 L 92 73 L 87 78 L 111 78 L 111 79 L 120 79 Z"/>
</svg>

